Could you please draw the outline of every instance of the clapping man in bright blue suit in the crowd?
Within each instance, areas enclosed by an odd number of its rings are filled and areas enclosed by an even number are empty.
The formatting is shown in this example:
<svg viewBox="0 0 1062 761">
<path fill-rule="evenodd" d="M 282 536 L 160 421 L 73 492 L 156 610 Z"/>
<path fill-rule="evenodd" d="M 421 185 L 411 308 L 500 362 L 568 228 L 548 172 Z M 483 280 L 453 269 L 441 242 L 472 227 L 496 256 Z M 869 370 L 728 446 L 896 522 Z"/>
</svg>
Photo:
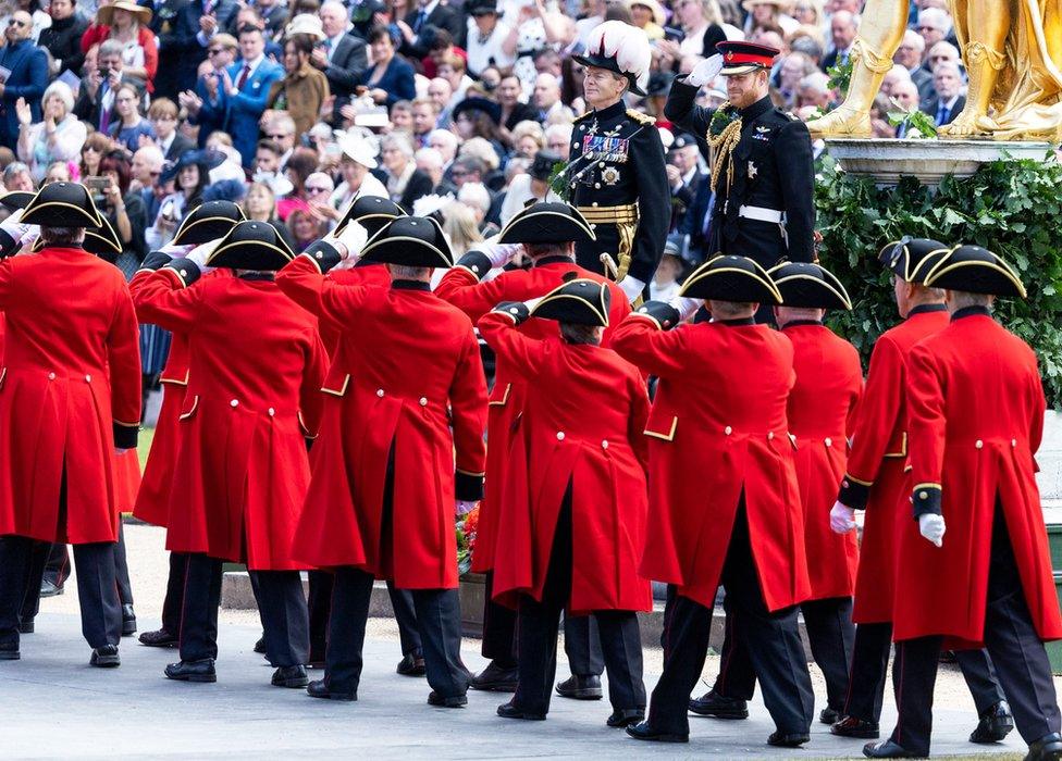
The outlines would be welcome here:
<svg viewBox="0 0 1062 761">
<path fill-rule="evenodd" d="M 233 145 L 243 158 L 244 169 L 250 169 L 258 144 L 258 122 L 266 111 L 266 100 L 274 82 L 284 76 L 280 64 L 264 55 L 266 36 L 257 26 L 239 30 L 240 60 L 215 77 L 205 79 L 208 98 L 196 120 L 221 124 L 233 136 Z"/>
</svg>

